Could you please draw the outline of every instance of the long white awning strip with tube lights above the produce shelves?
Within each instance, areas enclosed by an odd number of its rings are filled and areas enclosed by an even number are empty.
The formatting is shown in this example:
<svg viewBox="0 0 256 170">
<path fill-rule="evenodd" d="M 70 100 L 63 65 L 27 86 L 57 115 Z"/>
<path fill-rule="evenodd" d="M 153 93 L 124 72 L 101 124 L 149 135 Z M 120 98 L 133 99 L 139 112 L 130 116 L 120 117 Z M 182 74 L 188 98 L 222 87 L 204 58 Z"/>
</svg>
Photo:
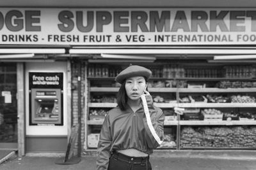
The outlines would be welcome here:
<svg viewBox="0 0 256 170">
<path fill-rule="evenodd" d="M 94 55 L 89 62 L 154 62 L 156 59 L 206 59 L 207 62 L 256 62 L 256 48 L 72 48 L 70 55 Z"/>
</svg>

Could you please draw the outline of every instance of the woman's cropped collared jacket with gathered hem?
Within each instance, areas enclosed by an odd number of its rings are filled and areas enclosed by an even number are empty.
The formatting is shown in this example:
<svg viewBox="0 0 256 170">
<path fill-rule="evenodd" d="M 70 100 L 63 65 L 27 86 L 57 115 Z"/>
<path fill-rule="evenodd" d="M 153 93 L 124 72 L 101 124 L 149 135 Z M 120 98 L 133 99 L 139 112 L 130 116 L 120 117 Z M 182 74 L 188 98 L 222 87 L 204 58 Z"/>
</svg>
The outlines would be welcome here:
<svg viewBox="0 0 256 170">
<path fill-rule="evenodd" d="M 151 96 L 146 96 L 146 99 L 154 130 L 163 140 L 163 111 L 153 106 Z M 159 144 L 148 128 L 143 106 L 135 112 L 129 106 L 124 111 L 117 106 L 109 111 L 102 124 L 97 150 L 97 169 L 108 169 L 109 157 L 115 150 L 135 148 L 150 155 L 157 146 Z"/>
</svg>

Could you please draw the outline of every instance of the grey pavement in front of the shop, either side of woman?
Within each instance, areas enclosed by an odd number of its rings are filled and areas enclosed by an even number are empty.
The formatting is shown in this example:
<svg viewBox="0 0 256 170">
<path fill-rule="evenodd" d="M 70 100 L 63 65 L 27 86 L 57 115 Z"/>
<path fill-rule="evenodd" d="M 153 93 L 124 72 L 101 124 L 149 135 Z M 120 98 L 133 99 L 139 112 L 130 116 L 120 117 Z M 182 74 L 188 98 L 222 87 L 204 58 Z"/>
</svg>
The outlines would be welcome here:
<svg viewBox="0 0 256 170">
<path fill-rule="evenodd" d="M 26 154 L 13 156 L 0 164 L 1 170 L 94 170 L 96 157 L 84 156 L 77 164 L 56 164 L 63 155 Z M 154 170 L 256 170 L 256 151 L 252 152 L 166 152 L 153 153 Z M 116 169 L 118 170 L 118 169 Z"/>
</svg>

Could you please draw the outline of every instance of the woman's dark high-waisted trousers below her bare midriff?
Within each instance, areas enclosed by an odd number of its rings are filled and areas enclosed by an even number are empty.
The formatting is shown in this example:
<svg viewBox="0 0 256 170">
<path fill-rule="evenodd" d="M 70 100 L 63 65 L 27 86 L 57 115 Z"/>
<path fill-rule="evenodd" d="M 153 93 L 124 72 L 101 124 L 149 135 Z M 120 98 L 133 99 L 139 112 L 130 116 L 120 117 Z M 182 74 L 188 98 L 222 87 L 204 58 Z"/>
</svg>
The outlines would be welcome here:
<svg viewBox="0 0 256 170">
<path fill-rule="evenodd" d="M 148 157 L 129 157 L 114 152 L 108 164 L 108 170 L 152 170 Z"/>
</svg>

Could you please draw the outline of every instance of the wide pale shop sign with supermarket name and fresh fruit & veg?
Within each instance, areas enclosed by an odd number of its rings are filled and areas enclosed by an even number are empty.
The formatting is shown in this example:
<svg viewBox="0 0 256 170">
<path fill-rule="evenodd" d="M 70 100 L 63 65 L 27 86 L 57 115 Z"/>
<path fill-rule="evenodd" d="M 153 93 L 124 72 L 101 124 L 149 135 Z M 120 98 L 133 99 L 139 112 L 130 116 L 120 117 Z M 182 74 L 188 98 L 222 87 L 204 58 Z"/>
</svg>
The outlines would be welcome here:
<svg viewBox="0 0 256 170">
<path fill-rule="evenodd" d="M 254 45 L 256 10 L 0 8 L 0 45 Z"/>
</svg>

